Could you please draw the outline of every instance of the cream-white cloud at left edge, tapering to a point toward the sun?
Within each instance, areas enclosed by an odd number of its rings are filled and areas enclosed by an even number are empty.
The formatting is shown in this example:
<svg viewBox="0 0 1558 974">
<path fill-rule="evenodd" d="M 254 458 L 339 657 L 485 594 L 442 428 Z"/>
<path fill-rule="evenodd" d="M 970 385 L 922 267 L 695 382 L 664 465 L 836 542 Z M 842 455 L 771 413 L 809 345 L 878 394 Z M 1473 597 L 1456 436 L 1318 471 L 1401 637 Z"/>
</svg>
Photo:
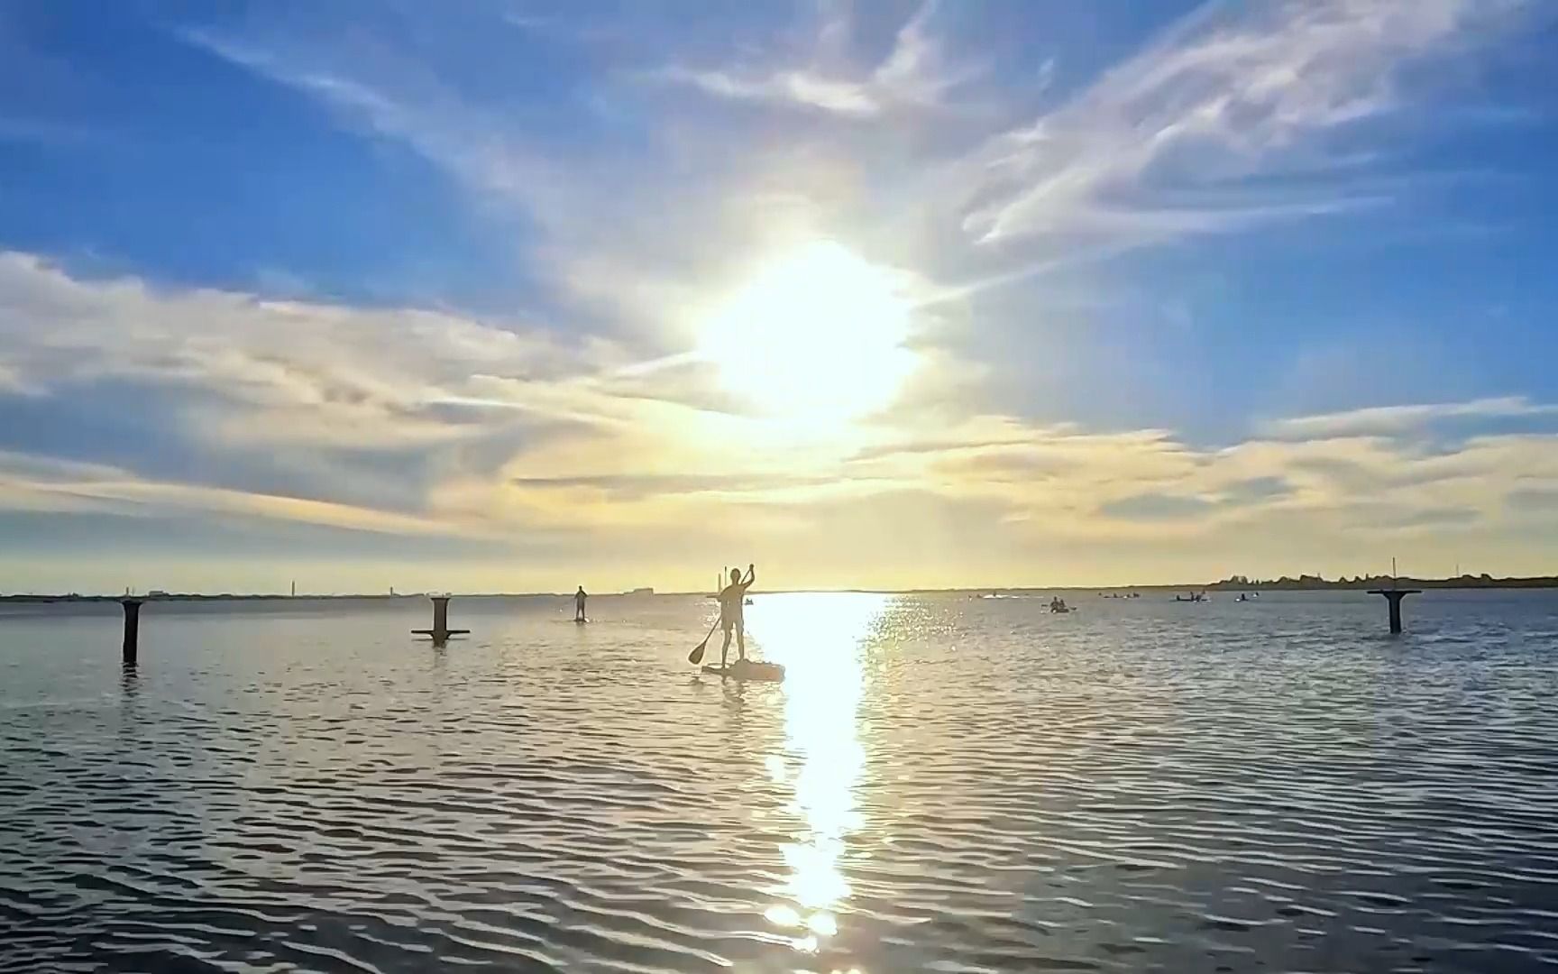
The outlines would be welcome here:
<svg viewBox="0 0 1558 974">
<path fill-rule="evenodd" d="M 580 349 L 534 330 L 411 309 L 168 293 L 132 277 L 78 281 L 17 252 L 0 252 L 0 348 L 5 371 L 34 394 L 104 379 L 178 385 L 238 410 L 243 422 L 223 435 L 241 427 L 358 447 L 467 435 L 430 407 L 478 374 L 553 382 L 592 368 Z"/>
</svg>

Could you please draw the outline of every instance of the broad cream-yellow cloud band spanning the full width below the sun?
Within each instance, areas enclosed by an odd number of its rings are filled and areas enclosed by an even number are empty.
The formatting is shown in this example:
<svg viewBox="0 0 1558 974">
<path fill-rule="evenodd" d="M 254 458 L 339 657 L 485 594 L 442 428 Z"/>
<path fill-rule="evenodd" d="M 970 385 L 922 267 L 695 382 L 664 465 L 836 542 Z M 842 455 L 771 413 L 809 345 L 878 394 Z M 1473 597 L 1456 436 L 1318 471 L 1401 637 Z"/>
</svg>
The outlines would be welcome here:
<svg viewBox="0 0 1558 974">
<path fill-rule="evenodd" d="M 1055 545 L 1136 545 L 1112 567 L 1086 561 L 1102 555 L 1073 555 L 1067 572 L 1123 572 L 1173 553 L 1181 567 L 1164 570 L 1179 575 L 1212 553 L 1225 572 L 1235 570 L 1231 558 L 1285 570 L 1293 552 L 1323 553 L 1324 542 L 1351 570 L 1348 559 L 1366 555 L 1360 538 L 1427 545 L 1454 535 L 1468 552 L 1482 545 L 1502 552 L 1503 564 L 1528 564 L 1538 541 L 1491 539 L 1550 522 L 1530 499 L 1558 492 L 1558 435 L 1433 439 L 1438 422 L 1558 413 L 1513 397 L 1296 418 L 1203 447 L 1168 430 L 1102 433 L 978 415 L 949 390 L 938 408 L 809 439 L 678 402 L 676 390 L 700 380 L 687 363 L 643 369 L 609 351 L 581 358 L 449 315 L 79 281 L 17 254 L 0 257 L 0 348 L 36 383 L 30 404 L 70 396 L 79 410 L 95 383 L 132 380 L 182 404 L 192 447 L 213 464 L 245 449 L 276 463 L 298 450 L 326 458 L 313 489 L 277 492 L 5 453 L 0 510 L 513 544 L 569 535 L 634 558 L 740 538 L 798 559 L 807 581 L 796 583 L 869 584 L 851 552 L 871 545 L 879 559 L 929 566 L 918 580 L 897 572 L 877 583 L 935 584 L 991 564 L 1019 572 Z M 386 468 L 330 458 L 374 452 L 411 457 L 427 472 L 416 505 L 352 500 L 354 478 L 385 477 Z M 897 517 L 893 531 L 876 533 L 888 516 Z M 947 549 L 949 539 L 960 547 Z M 858 573 L 829 575 L 827 566 Z"/>
</svg>

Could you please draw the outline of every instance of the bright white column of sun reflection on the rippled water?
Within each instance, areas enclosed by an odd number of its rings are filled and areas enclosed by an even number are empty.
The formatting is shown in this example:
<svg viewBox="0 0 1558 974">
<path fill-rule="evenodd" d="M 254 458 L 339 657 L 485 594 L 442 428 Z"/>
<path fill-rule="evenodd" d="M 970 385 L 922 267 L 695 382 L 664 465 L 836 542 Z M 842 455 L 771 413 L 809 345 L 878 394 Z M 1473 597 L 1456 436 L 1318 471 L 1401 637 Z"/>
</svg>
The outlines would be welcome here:
<svg viewBox="0 0 1558 974">
<path fill-rule="evenodd" d="M 763 655 L 785 667 L 785 753 L 768 756 L 765 768 L 776 784 L 791 784 L 791 812 L 804 820 L 784 846 L 785 902 L 767 918 L 795 930 L 804 952 L 838 933 L 837 912 L 849 896 L 843 859 L 848 835 L 860 828 L 854 790 L 865 767 L 855 726 L 862 653 L 887 603 L 887 595 L 871 594 L 784 594 L 748 609 Z"/>
</svg>

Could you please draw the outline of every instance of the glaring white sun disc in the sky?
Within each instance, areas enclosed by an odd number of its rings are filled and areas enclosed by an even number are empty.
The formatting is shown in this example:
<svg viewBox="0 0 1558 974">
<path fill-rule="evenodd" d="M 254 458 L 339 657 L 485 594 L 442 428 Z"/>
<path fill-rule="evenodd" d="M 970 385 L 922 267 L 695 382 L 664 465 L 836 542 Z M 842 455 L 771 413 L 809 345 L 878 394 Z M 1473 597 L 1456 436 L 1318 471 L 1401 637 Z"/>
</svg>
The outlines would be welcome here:
<svg viewBox="0 0 1558 974">
<path fill-rule="evenodd" d="M 701 358 L 765 416 L 841 422 L 885 407 L 913 368 L 897 277 L 821 240 L 765 265 L 707 318 Z"/>
</svg>

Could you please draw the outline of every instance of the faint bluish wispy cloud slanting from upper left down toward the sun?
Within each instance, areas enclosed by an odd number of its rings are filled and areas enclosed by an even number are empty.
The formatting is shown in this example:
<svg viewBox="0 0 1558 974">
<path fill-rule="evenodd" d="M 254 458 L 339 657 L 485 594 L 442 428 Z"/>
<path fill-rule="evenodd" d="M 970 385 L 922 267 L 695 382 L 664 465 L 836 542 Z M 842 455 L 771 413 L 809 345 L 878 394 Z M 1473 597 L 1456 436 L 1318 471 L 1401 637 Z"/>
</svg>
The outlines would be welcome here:
<svg viewBox="0 0 1558 974">
<path fill-rule="evenodd" d="M 408 17 L 436 23 L 422 11 Z M 740 189 L 763 182 L 757 162 L 714 165 L 723 157 L 662 132 L 612 143 L 620 109 L 601 108 L 612 98 L 606 81 L 567 115 L 576 143 L 548 142 L 506 106 L 463 94 L 447 79 L 447 64 L 428 62 L 404 37 L 363 28 L 343 39 L 312 17 L 301 20 L 312 26 L 277 28 L 259 17 L 262 26 L 187 30 L 184 37 L 321 103 L 344 128 L 408 148 L 463 187 L 483 217 L 517 226 L 511 259 L 534 281 L 541 304 L 575 318 L 567 330 L 631 340 L 645 357 L 665 352 L 665 332 L 681 324 L 673 309 L 706 301 L 731 251 L 751 248 L 731 248 L 731 238 L 762 237 L 782 223 L 763 190 L 745 196 Z M 667 131 L 696 142 L 687 128 Z M 584 148 L 597 139 L 606 151 Z M 698 157 L 692 181 L 678 159 L 687 154 Z"/>
</svg>

